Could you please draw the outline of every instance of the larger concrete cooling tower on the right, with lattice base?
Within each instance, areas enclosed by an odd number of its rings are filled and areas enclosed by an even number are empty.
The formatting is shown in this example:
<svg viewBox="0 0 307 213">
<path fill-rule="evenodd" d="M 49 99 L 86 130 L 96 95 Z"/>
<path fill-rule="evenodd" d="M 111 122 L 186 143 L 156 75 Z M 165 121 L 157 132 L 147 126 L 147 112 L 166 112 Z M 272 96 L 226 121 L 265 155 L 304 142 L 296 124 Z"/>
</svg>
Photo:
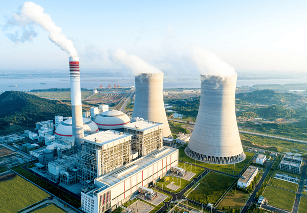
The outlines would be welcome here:
<svg viewBox="0 0 307 213">
<path fill-rule="evenodd" d="M 234 106 L 236 76 L 201 75 L 201 80 L 200 109 L 185 153 L 214 164 L 243 161 Z"/>
</svg>

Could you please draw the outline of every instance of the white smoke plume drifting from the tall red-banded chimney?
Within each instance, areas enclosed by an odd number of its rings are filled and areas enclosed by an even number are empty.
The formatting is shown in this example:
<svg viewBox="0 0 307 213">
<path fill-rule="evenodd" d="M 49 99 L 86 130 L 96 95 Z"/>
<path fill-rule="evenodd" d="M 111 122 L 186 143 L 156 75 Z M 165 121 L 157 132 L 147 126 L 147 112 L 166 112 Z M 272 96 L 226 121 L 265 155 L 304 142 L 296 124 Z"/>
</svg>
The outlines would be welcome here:
<svg viewBox="0 0 307 213">
<path fill-rule="evenodd" d="M 54 24 L 49 14 L 43 12 L 43 8 L 33 2 L 25 2 L 18 14 L 13 13 L 11 18 L 7 19 L 4 30 L 18 26 L 23 28 L 23 34 L 19 37 L 18 31 L 14 34 L 8 33 L 7 36 L 13 42 L 31 41 L 37 36 L 33 26 L 40 25 L 49 32 L 49 39 L 70 56 L 78 56 L 74 48 L 73 41 L 68 39 L 62 32 L 62 29 Z"/>
</svg>

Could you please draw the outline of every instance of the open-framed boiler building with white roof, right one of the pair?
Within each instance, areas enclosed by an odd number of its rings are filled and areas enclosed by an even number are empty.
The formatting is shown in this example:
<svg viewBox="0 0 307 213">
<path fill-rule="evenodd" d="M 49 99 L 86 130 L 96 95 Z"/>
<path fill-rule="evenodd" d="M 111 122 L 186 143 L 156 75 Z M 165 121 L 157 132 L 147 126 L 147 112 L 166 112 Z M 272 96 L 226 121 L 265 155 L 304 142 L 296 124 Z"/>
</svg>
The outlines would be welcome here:
<svg viewBox="0 0 307 213">
<path fill-rule="evenodd" d="M 131 150 L 145 156 L 163 146 L 163 123 L 146 120 L 124 125 L 124 132 L 131 134 Z"/>
</svg>

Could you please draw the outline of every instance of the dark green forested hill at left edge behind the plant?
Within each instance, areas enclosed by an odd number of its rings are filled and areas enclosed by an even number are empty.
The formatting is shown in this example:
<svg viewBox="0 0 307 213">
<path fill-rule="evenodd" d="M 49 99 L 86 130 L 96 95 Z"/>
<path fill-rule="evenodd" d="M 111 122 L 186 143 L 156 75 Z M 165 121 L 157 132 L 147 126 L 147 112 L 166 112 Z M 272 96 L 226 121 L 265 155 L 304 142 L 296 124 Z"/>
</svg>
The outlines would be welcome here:
<svg viewBox="0 0 307 213">
<path fill-rule="evenodd" d="M 30 127 L 35 122 L 54 120 L 56 115 L 70 117 L 71 107 L 24 92 L 7 91 L 0 95 L 0 131 L 10 123 Z"/>
</svg>

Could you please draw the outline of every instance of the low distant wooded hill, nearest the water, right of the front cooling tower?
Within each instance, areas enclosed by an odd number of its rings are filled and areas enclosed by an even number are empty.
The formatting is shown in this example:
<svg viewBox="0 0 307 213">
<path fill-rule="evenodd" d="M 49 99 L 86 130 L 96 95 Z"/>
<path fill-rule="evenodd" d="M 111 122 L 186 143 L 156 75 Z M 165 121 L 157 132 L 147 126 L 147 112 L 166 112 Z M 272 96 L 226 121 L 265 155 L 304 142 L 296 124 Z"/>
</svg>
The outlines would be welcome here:
<svg viewBox="0 0 307 213">
<path fill-rule="evenodd" d="M 278 93 L 273 90 L 256 90 L 250 93 L 238 93 L 235 98 L 248 103 L 284 104 L 294 101 L 303 101 L 301 95 L 294 93 Z"/>
</svg>

